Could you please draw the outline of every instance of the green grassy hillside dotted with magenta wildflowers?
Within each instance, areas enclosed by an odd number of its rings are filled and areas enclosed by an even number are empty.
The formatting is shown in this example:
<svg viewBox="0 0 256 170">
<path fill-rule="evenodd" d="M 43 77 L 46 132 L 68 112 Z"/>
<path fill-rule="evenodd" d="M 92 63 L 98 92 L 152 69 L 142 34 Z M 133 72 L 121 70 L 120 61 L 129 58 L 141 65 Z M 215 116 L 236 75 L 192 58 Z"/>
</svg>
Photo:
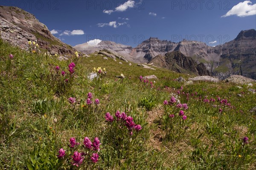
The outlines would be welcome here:
<svg viewBox="0 0 256 170">
<path fill-rule="evenodd" d="M 59 61 L 0 40 L 0 169 L 256 168 L 256 97 L 246 85 L 184 86 L 174 81 L 182 74 L 102 58 Z M 107 74 L 89 81 L 94 67 Z M 151 74 L 159 79 L 140 81 Z"/>
</svg>

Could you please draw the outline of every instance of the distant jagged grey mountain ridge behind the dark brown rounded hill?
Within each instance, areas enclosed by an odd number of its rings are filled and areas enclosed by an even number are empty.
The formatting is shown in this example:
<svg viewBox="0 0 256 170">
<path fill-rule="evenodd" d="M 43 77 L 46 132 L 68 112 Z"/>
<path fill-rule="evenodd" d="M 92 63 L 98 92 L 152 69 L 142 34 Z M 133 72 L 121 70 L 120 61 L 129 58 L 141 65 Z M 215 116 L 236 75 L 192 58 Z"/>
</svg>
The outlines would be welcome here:
<svg viewBox="0 0 256 170">
<path fill-rule="evenodd" d="M 101 43 L 106 42 L 102 41 Z M 116 51 L 132 62 L 151 63 L 151 60 L 158 55 L 164 56 L 172 51 L 180 51 L 186 57 L 194 59 L 197 64 L 203 63 L 211 74 L 220 79 L 225 79 L 234 74 L 256 79 L 255 29 L 241 31 L 236 39 L 215 47 L 208 46 L 204 42 L 182 40 L 176 43 L 159 40 L 156 37 L 150 37 L 135 48 L 123 46 L 123 48 L 117 49 L 119 44 L 114 42 L 109 44 L 111 45 L 99 48 Z M 79 48 L 77 49 L 79 50 Z M 160 62 L 161 60 L 157 61 Z M 163 65 L 163 63 L 154 64 Z"/>
</svg>

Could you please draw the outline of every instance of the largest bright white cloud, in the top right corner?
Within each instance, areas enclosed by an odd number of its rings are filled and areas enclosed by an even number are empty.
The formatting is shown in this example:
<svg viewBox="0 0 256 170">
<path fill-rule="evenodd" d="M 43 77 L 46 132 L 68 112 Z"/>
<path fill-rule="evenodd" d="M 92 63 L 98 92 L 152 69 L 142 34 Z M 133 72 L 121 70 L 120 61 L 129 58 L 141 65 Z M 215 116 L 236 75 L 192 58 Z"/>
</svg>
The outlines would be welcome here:
<svg viewBox="0 0 256 170">
<path fill-rule="evenodd" d="M 256 15 L 256 3 L 253 5 L 252 2 L 250 0 L 245 0 L 244 2 L 241 2 L 235 6 L 233 6 L 233 8 L 231 8 L 227 14 L 221 16 L 221 17 L 228 17 L 231 15 L 236 15 L 238 17 L 247 17 L 250 15 Z"/>
</svg>

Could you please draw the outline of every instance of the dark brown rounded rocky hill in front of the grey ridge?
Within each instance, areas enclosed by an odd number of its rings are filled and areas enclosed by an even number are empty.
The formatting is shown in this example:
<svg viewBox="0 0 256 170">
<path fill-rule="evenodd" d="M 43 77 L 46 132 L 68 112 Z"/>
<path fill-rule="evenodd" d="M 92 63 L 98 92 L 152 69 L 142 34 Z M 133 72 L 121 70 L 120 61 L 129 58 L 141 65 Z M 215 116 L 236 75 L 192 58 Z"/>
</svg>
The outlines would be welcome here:
<svg viewBox="0 0 256 170">
<path fill-rule="evenodd" d="M 196 74 L 200 76 L 211 75 L 204 64 L 197 64 L 191 57 L 186 57 L 180 51 L 173 51 L 163 55 L 157 55 L 150 60 L 157 67 L 167 68 L 178 73 Z"/>
</svg>

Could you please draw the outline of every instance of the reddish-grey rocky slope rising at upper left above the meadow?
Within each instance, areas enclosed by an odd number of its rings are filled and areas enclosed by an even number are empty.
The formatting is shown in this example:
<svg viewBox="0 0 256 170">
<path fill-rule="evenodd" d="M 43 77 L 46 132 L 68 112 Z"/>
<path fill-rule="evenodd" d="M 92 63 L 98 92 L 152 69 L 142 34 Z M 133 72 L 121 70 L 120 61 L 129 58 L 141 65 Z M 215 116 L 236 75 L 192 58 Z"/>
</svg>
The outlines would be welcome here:
<svg viewBox="0 0 256 170">
<path fill-rule="evenodd" d="M 3 40 L 28 49 L 28 41 L 35 41 L 49 54 L 73 54 L 76 49 L 54 37 L 47 26 L 33 14 L 12 6 L 0 6 L 0 32 Z"/>
</svg>

